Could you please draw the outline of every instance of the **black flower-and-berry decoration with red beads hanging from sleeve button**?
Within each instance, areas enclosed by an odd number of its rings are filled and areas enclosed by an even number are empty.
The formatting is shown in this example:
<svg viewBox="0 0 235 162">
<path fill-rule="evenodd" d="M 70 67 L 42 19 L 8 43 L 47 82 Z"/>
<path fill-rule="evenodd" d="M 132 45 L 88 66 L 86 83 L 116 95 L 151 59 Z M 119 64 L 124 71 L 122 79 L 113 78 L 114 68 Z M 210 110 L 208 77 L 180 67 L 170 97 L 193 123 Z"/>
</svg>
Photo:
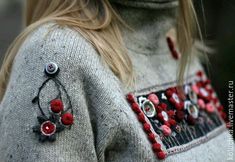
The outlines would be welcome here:
<svg viewBox="0 0 235 162">
<path fill-rule="evenodd" d="M 74 122 L 73 108 L 70 97 L 63 84 L 56 78 L 59 71 L 59 67 L 54 62 L 50 62 L 45 65 L 44 72 L 48 76 L 48 79 L 42 83 L 42 85 L 39 87 L 37 96 L 32 100 L 33 103 L 38 104 L 38 109 L 41 114 L 37 117 L 38 124 L 33 127 L 33 132 L 39 135 L 40 142 L 55 141 L 56 133 L 61 132 L 66 128 L 70 129 Z M 39 96 L 41 90 L 49 81 L 53 81 L 55 83 L 59 93 L 53 100 L 50 101 L 50 113 L 49 115 L 46 115 L 41 107 Z M 67 108 L 65 108 L 65 105 L 62 101 L 62 91 L 66 94 L 66 99 L 69 103 Z"/>
</svg>

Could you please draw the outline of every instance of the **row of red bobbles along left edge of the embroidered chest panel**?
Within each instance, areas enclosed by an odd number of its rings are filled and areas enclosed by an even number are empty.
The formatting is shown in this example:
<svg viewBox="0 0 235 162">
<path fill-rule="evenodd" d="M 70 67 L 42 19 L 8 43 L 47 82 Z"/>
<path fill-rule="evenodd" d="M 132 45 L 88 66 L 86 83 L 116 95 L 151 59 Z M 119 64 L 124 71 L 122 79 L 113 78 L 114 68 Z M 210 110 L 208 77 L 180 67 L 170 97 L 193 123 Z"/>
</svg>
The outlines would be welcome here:
<svg viewBox="0 0 235 162">
<path fill-rule="evenodd" d="M 133 94 L 127 95 L 127 100 L 131 105 L 132 110 L 136 113 L 138 116 L 138 120 L 143 124 L 143 129 L 148 135 L 149 141 L 152 143 L 152 149 L 156 153 L 156 156 L 158 159 L 165 159 L 166 153 L 162 150 L 161 144 L 159 144 L 155 139 L 155 134 L 151 130 L 151 126 L 149 123 L 147 123 L 144 113 L 141 111 L 139 105 L 135 101 L 135 97 Z"/>
</svg>

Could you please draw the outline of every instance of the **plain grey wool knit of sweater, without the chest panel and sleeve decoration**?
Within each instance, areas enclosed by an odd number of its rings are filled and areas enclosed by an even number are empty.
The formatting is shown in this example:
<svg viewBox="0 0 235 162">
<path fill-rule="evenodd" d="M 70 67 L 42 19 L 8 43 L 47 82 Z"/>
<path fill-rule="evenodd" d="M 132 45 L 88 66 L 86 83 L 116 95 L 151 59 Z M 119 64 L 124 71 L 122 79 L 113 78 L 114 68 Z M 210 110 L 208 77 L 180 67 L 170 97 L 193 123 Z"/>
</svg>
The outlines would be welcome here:
<svg viewBox="0 0 235 162">
<path fill-rule="evenodd" d="M 172 25 L 171 21 L 160 24 L 159 28 Z M 44 24 L 28 36 L 14 60 L 0 105 L 0 162 L 160 161 L 128 104 L 126 94 L 145 94 L 176 85 L 178 61 L 170 55 L 166 42 L 157 42 L 159 48 L 156 49 L 145 48 L 151 45 L 150 42 L 140 47 L 141 30 L 138 31 L 140 35 L 123 31 L 127 33 L 124 39 L 137 77 L 136 87 L 124 88 L 85 38 L 72 29 L 53 25 L 52 22 Z M 40 114 L 32 99 L 47 78 L 44 66 L 49 62 L 60 68 L 56 77 L 70 96 L 74 124 L 71 129 L 57 133 L 56 141 L 41 143 L 32 131 Z M 203 69 L 195 59 L 188 76 L 198 70 Z M 50 113 L 49 101 L 57 94 L 53 82 L 48 82 L 42 89 L 40 102 L 46 114 Z M 202 137 L 203 140 L 195 139 L 188 149 L 171 154 L 162 161 L 227 161 L 230 138 L 225 124 L 222 124 Z M 158 142 L 162 143 L 159 139 Z M 186 145 L 177 148 L 184 147 Z"/>
</svg>

